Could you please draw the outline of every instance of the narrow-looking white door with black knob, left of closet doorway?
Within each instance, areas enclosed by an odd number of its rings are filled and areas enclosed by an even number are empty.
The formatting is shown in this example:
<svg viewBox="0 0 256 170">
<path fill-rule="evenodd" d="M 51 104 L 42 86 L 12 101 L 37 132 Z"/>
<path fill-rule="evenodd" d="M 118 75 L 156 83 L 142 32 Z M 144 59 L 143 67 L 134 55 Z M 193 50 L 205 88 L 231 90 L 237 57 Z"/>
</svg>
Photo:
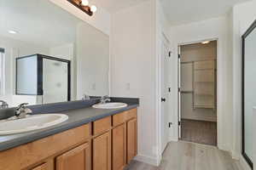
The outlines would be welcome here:
<svg viewBox="0 0 256 170">
<path fill-rule="evenodd" d="M 171 72 L 168 70 L 171 59 L 168 46 L 166 38 L 163 38 L 161 52 L 161 152 L 165 150 L 170 136 L 169 106 L 171 98 L 169 95 L 171 94 L 171 86 L 169 77 L 171 76 Z"/>
</svg>

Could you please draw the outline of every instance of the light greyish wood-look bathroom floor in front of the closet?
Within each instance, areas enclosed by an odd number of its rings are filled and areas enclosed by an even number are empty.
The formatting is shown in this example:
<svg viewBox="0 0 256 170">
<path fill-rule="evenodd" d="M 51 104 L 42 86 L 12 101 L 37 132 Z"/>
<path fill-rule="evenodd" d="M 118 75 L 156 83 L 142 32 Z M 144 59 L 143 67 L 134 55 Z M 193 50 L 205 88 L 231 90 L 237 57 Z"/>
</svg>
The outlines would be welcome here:
<svg viewBox="0 0 256 170">
<path fill-rule="evenodd" d="M 166 147 L 160 167 L 131 161 L 125 170 L 242 170 L 230 155 L 214 146 L 184 141 Z"/>
</svg>

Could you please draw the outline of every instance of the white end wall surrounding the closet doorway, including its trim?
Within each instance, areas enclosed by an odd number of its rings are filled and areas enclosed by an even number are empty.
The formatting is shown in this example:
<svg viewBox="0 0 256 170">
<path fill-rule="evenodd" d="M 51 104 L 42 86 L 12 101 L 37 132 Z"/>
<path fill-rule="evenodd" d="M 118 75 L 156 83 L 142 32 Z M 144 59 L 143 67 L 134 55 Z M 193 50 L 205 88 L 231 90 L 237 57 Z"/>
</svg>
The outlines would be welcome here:
<svg viewBox="0 0 256 170">
<path fill-rule="evenodd" d="M 172 115 L 173 126 L 173 140 L 177 140 L 177 46 L 178 44 L 188 42 L 199 42 L 206 39 L 218 39 L 218 147 L 222 150 L 231 150 L 232 147 L 232 86 L 230 78 L 230 39 L 228 36 L 228 19 L 214 18 L 211 20 L 203 20 L 200 22 L 193 22 L 181 26 L 172 27 L 172 39 L 175 42 L 175 51 L 173 58 L 173 80 L 176 82 L 172 84 L 172 96 L 174 108 Z"/>
</svg>

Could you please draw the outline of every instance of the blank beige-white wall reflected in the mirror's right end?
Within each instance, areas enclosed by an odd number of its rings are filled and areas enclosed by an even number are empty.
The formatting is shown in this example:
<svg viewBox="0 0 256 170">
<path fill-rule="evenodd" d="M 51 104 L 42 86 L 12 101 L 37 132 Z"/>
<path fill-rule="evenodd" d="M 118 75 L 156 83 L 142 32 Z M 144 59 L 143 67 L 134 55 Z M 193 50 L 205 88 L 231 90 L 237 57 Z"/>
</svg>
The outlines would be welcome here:
<svg viewBox="0 0 256 170">
<path fill-rule="evenodd" d="M 77 99 L 83 94 L 109 94 L 109 37 L 89 26 L 79 24 L 76 40 Z"/>
</svg>

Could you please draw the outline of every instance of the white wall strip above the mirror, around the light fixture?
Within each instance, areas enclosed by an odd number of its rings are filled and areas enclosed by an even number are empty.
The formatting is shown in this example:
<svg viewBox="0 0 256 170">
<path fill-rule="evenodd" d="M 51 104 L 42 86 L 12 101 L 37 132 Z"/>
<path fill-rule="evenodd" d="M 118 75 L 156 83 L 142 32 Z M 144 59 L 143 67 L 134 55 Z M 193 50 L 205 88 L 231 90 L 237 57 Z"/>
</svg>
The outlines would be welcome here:
<svg viewBox="0 0 256 170">
<path fill-rule="evenodd" d="M 49 0 L 52 3 L 55 3 L 56 5 L 60 6 L 61 8 L 64 8 L 69 13 L 74 14 L 77 16 L 80 20 L 84 20 L 90 26 L 96 27 L 96 29 L 104 32 L 105 34 L 110 34 L 110 14 L 104 9 L 97 7 L 97 11 L 92 16 L 89 16 L 88 14 L 85 14 L 82 10 L 79 8 L 73 6 L 72 3 L 69 3 L 68 1 L 63 0 Z"/>
</svg>

